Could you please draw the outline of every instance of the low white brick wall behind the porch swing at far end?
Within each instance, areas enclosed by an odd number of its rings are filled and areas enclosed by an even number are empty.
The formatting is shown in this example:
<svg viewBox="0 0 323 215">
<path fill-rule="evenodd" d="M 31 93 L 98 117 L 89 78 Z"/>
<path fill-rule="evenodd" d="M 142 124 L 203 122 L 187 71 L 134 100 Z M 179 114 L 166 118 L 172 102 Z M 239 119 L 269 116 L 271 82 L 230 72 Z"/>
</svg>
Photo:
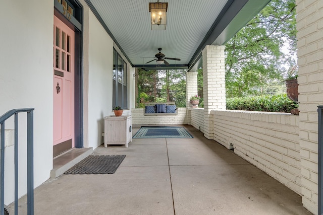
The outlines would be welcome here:
<svg viewBox="0 0 323 215">
<path fill-rule="evenodd" d="M 133 125 L 175 125 L 187 124 L 187 108 L 178 108 L 177 115 L 143 115 L 143 108 L 133 108 L 132 124 Z"/>
</svg>

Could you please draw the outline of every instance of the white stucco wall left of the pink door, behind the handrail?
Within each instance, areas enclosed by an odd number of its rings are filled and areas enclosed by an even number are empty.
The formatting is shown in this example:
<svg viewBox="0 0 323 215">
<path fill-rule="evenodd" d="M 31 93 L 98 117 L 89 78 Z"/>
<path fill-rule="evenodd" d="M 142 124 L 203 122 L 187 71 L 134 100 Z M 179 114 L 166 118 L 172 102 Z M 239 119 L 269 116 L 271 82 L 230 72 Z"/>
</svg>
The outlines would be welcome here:
<svg viewBox="0 0 323 215">
<path fill-rule="evenodd" d="M 49 178 L 52 169 L 53 1 L 2 1 L 0 26 L 0 115 L 15 108 L 35 108 L 34 186 L 37 187 Z M 19 141 L 25 145 L 26 114 L 20 115 Z M 12 122 L 6 125 L 13 128 Z M 13 150 L 9 148 L 7 157 L 12 156 L 9 153 Z M 21 148 L 19 153 L 24 151 Z M 19 157 L 19 162 L 25 164 L 23 154 Z M 25 168 L 21 165 L 20 171 L 26 173 Z M 19 189 L 19 195 L 24 195 L 26 182 L 19 184 Z M 11 201 L 6 195 L 5 203 Z"/>
</svg>

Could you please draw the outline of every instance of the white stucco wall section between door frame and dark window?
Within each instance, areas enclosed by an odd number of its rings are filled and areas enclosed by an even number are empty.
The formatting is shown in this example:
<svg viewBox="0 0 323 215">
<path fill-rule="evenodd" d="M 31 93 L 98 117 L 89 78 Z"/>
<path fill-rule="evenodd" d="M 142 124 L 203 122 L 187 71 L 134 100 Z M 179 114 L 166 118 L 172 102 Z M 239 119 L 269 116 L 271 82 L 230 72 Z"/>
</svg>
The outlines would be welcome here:
<svg viewBox="0 0 323 215">
<path fill-rule="evenodd" d="M 92 12 L 89 13 L 89 147 L 102 144 L 103 117 L 112 111 L 113 40 Z"/>
</svg>

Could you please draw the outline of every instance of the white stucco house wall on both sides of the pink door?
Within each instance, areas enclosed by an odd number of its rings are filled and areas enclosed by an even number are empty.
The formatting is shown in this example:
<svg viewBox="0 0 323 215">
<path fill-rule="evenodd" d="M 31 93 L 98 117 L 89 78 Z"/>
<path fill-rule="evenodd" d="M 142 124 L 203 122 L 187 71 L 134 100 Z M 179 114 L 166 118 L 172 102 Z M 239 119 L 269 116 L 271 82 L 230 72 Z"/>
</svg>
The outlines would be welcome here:
<svg viewBox="0 0 323 215">
<path fill-rule="evenodd" d="M 113 46 L 83 0 L 84 147 L 102 144 L 103 116 L 112 112 Z M 37 13 L 35 13 L 37 11 Z M 34 111 L 34 186 L 49 178 L 52 169 L 53 1 L 5 1 L 0 7 L 0 115 L 15 108 Z M 125 58 L 124 58 L 125 59 Z M 134 106 L 134 68 L 128 63 L 129 107 Z M 131 111 L 125 111 L 130 114 Z M 26 114 L 19 115 L 19 195 L 26 194 Z M 13 119 L 6 128 L 13 129 Z M 6 199 L 13 201 L 13 146 L 6 150 Z M 10 159 L 9 159 L 10 158 Z M 8 160 L 9 159 L 9 160 Z M 11 169 L 9 169 L 10 167 Z M 10 191 L 10 192 L 8 192 Z"/>
</svg>

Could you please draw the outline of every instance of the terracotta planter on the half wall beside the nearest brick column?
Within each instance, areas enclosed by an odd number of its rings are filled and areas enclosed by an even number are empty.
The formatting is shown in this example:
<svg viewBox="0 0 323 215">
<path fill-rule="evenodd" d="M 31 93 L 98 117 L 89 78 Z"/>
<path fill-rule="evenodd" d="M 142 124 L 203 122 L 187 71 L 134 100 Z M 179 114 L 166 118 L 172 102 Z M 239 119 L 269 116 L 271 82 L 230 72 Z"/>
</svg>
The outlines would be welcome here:
<svg viewBox="0 0 323 215">
<path fill-rule="evenodd" d="M 298 102 L 298 95 L 299 95 L 297 77 L 298 77 L 297 65 L 292 65 L 287 71 L 287 79 L 285 80 L 285 83 L 287 87 L 287 90 L 286 90 L 287 97 L 294 102 Z M 299 114 L 298 108 L 292 109 L 291 114 L 298 115 Z"/>
</svg>

